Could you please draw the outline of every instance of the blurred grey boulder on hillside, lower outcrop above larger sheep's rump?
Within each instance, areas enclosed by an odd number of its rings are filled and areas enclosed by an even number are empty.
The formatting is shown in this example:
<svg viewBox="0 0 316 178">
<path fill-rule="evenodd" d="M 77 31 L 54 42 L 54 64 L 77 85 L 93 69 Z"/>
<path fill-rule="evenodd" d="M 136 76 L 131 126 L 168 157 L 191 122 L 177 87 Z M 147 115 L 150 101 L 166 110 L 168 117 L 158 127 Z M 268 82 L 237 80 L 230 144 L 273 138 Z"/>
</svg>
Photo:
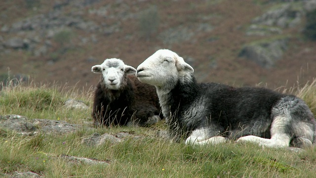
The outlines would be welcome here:
<svg viewBox="0 0 316 178">
<path fill-rule="evenodd" d="M 263 68 L 271 68 L 282 57 L 283 52 L 287 49 L 287 43 L 287 38 L 252 43 L 245 45 L 239 56 L 246 57 Z"/>
</svg>

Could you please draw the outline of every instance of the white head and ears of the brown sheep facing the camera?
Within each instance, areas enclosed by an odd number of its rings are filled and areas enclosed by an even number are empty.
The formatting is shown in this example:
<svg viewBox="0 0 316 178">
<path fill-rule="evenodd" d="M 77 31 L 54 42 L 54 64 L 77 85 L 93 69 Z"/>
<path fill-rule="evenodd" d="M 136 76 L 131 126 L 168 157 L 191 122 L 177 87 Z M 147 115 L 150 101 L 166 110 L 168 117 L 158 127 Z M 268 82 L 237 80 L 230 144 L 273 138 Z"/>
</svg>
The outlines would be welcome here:
<svg viewBox="0 0 316 178">
<path fill-rule="evenodd" d="M 101 73 L 103 82 L 108 89 L 120 89 L 126 74 L 136 72 L 136 69 L 125 65 L 124 62 L 117 58 L 105 59 L 100 65 L 92 66 L 91 71 Z"/>
</svg>

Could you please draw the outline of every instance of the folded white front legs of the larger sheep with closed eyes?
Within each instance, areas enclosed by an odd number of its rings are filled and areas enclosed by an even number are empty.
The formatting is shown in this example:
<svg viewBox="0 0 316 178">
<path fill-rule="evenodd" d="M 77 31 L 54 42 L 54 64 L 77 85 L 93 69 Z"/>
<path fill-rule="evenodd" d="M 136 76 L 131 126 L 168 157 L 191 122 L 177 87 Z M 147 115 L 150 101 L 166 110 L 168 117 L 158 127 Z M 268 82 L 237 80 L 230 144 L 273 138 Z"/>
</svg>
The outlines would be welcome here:
<svg viewBox="0 0 316 178">
<path fill-rule="evenodd" d="M 207 129 L 194 130 L 186 139 L 186 144 L 203 145 L 203 144 L 219 144 L 226 142 L 224 136 L 210 137 Z"/>
</svg>

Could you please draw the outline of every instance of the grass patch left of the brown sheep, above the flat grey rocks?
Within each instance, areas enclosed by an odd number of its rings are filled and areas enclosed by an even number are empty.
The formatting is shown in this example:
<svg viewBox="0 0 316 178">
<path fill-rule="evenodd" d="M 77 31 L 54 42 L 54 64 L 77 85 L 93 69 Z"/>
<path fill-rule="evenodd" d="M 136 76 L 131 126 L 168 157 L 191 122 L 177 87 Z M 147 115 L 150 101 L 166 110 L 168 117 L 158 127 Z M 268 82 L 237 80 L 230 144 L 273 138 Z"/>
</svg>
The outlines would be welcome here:
<svg viewBox="0 0 316 178">
<path fill-rule="evenodd" d="M 64 108 L 67 99 L 78 99 L 85 104 L 91 105 L 91 91 L 86 93 L 78 89 L 61 86 L 59 84 L 3 86 L 0 91 L 0 113 L 17 114 L 28 118 L 52 119 L 72 121 L 75 124 L 83 122 L 90 116 L 90 111 L 68 110 Z M 88 93 L 89 92 L 89 93 Z"/>
</svg>

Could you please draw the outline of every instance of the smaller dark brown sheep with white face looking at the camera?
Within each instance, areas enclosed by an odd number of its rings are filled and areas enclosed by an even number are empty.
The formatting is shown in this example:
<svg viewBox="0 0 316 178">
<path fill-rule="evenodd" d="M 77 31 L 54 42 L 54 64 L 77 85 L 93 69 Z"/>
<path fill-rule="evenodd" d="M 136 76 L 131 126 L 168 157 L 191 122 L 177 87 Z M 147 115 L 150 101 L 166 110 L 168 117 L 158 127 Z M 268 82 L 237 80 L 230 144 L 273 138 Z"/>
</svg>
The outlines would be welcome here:
<svg viewBox="0 0 316 178">
<path fill-rule="evenodd" d="M 92 117 L 95 126 L 148 126 L 160 119 L 155 87 L 140 83 L 136 69 L 117 58 L 105 59 L 91 71 L 102 74 L 94 91 Z"/>
</svg>

